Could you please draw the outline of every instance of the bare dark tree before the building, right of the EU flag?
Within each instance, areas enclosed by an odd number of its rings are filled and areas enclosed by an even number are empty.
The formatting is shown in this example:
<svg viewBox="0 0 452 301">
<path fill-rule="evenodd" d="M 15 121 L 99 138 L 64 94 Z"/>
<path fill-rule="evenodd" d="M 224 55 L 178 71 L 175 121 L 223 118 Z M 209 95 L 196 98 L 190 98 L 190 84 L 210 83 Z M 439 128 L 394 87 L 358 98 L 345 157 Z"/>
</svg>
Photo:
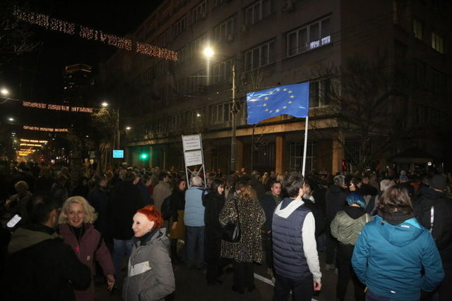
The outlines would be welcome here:
<svg viewBox="0 0 452 301">
<path fill-rule="evenodd" d="M 406 134 L 400 123 L 406 78 L 404 73 L 395 72 L 386 53 L 371 59 L 352 56 L 341 66 L 320 66 L 313 75 L 311 78 L 319 80 L 311 82 L 311 102 L 314 99 L 328 104 L 325 109 L 313 111 L 314 117 L 317 113 L 332 117 L 335 124 L 330 128 L 335 130 L 330 133 L 331 138 L 340 142 L 352 166 L 364 170 Z M 344 137 L 357 142 L 353 149 Z M 369 151 L 371 140 L 378 140 L 373 152 Z"/>
</svg>

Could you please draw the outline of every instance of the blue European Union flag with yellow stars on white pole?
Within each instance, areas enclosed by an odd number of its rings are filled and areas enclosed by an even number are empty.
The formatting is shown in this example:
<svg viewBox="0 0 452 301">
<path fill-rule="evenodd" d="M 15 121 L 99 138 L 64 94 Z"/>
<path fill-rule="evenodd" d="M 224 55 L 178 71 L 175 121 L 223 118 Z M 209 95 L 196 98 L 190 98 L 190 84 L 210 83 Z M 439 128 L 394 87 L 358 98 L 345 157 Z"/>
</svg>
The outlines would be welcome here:
<svg viewBox="0 0 452 301">
<path fill-rule="evenodd" d="M 246 94 L 248 124 L 287 114 L 294 117 L 309 115 L 309 82 L 273 87 Z"/>
</svg>

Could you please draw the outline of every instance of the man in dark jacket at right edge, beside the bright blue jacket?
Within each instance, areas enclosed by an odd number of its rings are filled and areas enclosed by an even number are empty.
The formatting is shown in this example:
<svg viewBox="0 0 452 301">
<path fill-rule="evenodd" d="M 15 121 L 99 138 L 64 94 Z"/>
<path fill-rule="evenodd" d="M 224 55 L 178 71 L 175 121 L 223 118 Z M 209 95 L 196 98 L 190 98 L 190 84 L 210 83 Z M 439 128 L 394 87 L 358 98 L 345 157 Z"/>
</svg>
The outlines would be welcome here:
<svg viewBox="0 0 452 301">
<path fill-rule="evenodd" d="M 430 188 L 422 190 L 413 202 L 417 221 L 432 232 L 441 260 L 444 280 L 437 289 L 438 300 L 450 300 L 452 296 L 452 199 L 444 195 L 446 177 L 435 175 L 429 180 Z"/>
</svg>

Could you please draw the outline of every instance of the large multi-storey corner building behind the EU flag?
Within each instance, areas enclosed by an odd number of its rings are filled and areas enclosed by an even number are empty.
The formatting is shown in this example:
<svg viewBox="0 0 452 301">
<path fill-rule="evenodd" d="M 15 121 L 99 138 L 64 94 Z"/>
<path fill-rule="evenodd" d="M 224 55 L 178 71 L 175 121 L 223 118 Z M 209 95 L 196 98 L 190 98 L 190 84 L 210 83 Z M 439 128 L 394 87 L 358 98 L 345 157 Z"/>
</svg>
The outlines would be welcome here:
<svg viewBox="0 0 452 301">
<path fill-rule="evenodd" d="M 235 66 L 236 169 L 302 169 L 304 118 L 248 125 L 245 99 L 307 81 L 307 171 L 422 168 L 451 146 L 450 13 L 446 1 L 166 0 L 133 39 L 179 60 L 117 51 L 101 75 L 131 118 L 133 165 L 182 168 L 181 135 L 201 133 L 206 168 L 228 171 Z"/>
</svg>

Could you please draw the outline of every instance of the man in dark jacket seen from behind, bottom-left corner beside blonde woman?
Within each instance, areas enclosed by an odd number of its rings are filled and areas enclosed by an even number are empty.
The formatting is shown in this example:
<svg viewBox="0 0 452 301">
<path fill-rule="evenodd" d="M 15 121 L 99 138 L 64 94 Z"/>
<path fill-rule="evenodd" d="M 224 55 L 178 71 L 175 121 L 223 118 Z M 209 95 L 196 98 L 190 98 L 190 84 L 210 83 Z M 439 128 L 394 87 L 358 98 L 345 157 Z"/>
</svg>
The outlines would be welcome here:
<svg viewBox="0 0 452 301">
<path fill-rule="evenodd" d="M 91 271 L 54 231 L 57 210 L 34 199 L 27 226 L 18 228 L 0 281 L 0 300 L 76 300 L 73 290 L 91 283 Z"/>
</svg>

